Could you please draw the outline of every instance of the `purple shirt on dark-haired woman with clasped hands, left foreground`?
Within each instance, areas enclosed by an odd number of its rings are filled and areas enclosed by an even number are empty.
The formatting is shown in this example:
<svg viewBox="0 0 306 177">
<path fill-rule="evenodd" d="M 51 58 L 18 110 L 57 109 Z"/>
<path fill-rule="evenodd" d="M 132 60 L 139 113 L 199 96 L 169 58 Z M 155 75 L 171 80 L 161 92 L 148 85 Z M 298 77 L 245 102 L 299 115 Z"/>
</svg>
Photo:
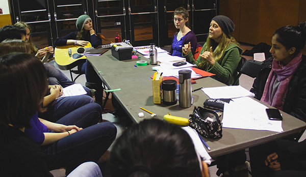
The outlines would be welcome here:
<svg viewBox="0 0 306 177">
<path fill-rule="evenodd" d="M 49 132 L 47 126 L 39 121 L 37 112 L 32 115 L 30 124 L 32 128 L 25 128 L 24 133 L 27 134 L 36 144 L 41 145 L 44 141 L 43 133 Z"/>
</svg>

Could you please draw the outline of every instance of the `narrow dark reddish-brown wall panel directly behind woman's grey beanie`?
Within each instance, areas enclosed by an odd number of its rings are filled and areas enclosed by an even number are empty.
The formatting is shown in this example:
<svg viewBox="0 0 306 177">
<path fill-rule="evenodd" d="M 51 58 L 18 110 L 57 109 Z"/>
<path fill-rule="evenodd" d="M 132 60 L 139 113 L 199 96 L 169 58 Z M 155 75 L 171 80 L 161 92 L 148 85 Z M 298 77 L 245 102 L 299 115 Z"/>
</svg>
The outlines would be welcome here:
<svg viewBox="0 0 306 177">
<path fill-rule="evenodd" d="M 243 1 L 243 0 L 242 0 Z M 240 41 L 240 3 L 241 0 L 221 0 L 219 1 L 219 15 L 225 15 L 235 24 L 235 31 L 232 36 Z"/>
</svg>

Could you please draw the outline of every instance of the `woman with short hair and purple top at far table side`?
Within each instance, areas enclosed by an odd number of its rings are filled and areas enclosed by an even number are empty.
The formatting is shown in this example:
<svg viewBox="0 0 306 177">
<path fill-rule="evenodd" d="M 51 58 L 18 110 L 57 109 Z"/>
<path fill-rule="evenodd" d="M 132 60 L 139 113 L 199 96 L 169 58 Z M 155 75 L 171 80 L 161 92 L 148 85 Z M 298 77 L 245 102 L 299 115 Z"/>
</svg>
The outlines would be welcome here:
<svg viewBox="0 0 306 177">
<path fill-rule="evenodd" d="M 197 40 L 195 34 L 190 30 L 189 26 L 189 13 L 183 8 L 179 7 L 175 9 L 173 13 L 174 25 L 177 32 L 172 36 L 172 45 L 170 49 L 170 54 L 172 56 L 182 57 L 182 47 L 184 44 L 191 44 L 191 52 L 194 54 L 197 46 Z"/>
</svg>

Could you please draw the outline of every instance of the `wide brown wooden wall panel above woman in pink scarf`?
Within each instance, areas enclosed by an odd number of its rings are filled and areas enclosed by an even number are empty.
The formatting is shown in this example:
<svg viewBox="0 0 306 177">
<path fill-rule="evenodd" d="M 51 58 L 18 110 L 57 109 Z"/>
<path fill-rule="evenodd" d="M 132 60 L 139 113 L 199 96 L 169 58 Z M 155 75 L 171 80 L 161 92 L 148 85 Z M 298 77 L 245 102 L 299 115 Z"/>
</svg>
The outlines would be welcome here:
<svg viewBox="0 0 306 177">
<path fill-rule="evenodd" d="M 297 24 L 299 3 L 300 0 L 241 0 L 240 41 L 271 45 L 277 28 Z"/>
</svg>

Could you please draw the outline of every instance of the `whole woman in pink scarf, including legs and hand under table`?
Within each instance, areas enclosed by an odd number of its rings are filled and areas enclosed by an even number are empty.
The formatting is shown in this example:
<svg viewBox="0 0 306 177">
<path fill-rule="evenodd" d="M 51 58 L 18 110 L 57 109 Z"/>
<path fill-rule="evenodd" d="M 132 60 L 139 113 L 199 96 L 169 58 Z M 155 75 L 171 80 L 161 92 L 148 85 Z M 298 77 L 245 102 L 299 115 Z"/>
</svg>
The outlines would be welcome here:
<svg viewBox="0 0 306 177">
<path fill-rule="evenodd" d="M 271 58 L 263 63 L 251 92 L 255 98 L 306 122 L 306 21 L 284 26 L 272 37 Z M 306 140 L 279 139 L 249 149 L 252 176 L 306 176 Z"/>
</svg>

